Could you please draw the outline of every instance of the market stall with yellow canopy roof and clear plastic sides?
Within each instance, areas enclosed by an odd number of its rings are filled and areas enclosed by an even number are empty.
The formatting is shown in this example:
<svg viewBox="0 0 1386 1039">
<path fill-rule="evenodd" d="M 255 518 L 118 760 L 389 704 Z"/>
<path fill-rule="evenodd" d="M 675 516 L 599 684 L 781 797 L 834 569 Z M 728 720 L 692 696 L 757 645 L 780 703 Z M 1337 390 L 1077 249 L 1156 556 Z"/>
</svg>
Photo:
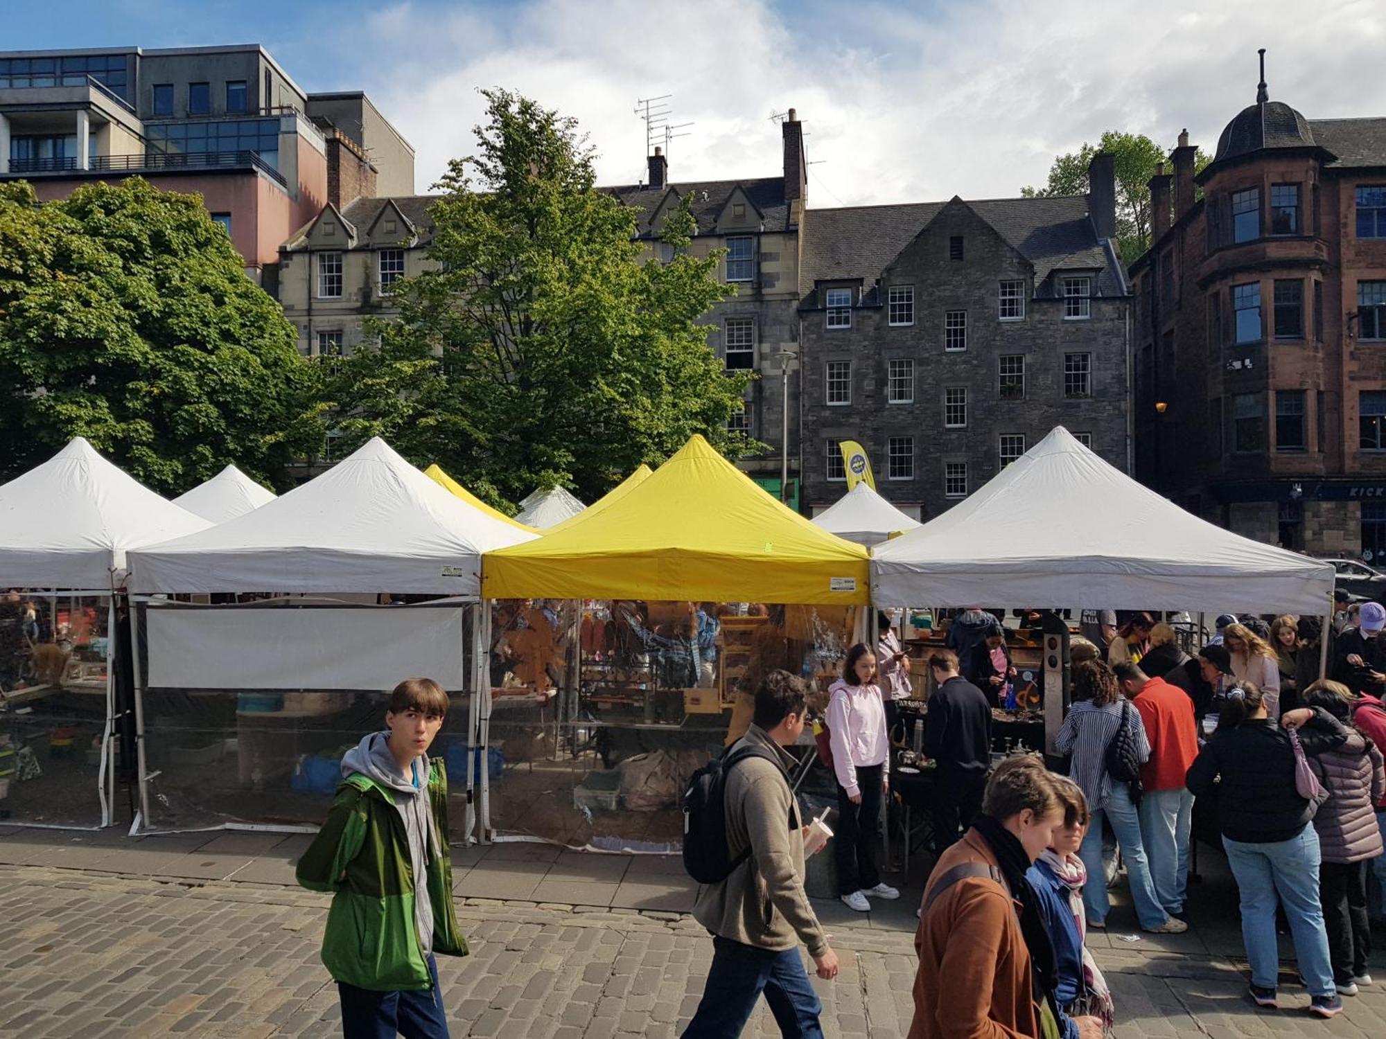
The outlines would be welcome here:
<svg viewBox="0 0 1386 1039">
<path fill-rule="evenodd" d="M 493 647 L 488 745 L 534 741 L 532 723 L 499 709 L 516 689 L 557 690 L 557 745 L 516 770 L 506 751 L 482 826 L 675 845 L 685 780 L 744 731 L 761 675 L 787 668 L 826 701 L 863 630 L 866 564 L 865 549 L 784 508 L 700 436 L 620 497 L 488 553 L 495 632 L 518 636 Z"/>
</svg>

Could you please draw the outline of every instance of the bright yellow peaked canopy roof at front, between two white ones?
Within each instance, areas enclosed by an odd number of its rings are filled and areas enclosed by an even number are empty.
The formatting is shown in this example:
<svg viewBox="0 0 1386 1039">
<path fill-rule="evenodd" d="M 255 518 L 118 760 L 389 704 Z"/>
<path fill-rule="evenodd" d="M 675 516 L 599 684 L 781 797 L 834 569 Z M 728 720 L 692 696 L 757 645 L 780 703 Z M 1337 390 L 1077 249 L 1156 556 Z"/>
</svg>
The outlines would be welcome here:
<svg viewBox="0 0 1386 1039">
<path fill-rule="evenodd" d="M 534 542 L 486 553 L 482 594 L 869 603 L 862 546 L 782 506 L 701 436 L 618 500 L 597 506 Z"/>
</svg>

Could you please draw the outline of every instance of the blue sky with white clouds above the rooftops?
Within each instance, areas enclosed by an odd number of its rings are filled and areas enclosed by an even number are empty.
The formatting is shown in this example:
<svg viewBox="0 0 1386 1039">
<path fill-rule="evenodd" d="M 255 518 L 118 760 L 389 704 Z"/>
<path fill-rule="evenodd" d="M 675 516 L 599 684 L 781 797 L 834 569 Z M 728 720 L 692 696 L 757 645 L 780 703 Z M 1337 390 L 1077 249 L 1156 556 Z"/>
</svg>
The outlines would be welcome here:
<svg viewBox="0 0 1386 1039">
<path fill-rule="evenodd" d="M 480 87 L 575 116 L 599 183 L 644 175 L 636 101 L 672 94 L 669 179 L 780 172 L 804 123 L 814 208 L 1017 195 L 1103 130 L 1211 152 L 1256 100 L 1386 116 L 1383 0 L 0 0 L 0 48 L 261 43 L 308 91 L 363 89 L 427 193 L 473 150 Z"/>
</svg>

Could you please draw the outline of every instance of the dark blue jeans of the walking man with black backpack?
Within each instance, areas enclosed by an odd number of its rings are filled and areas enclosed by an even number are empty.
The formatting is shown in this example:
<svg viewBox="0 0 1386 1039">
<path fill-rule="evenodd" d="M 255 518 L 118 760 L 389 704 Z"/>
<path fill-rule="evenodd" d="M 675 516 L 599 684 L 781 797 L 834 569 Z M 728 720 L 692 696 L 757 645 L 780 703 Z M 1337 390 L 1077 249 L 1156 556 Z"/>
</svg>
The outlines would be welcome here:
<svg viewBox="0 0 1386 1039">
<path fill-rule="evenodd" d="M 697 1013 L 683 1039 L 735 1039 L 765 993 L 780 1035 L 787 1039 L 823 1039 L 818 1015 L 823 1004 L 808 982 L 798 949 L 757 949 L 729 938 L 712 938 L 712 967 Z"/>
</svg>

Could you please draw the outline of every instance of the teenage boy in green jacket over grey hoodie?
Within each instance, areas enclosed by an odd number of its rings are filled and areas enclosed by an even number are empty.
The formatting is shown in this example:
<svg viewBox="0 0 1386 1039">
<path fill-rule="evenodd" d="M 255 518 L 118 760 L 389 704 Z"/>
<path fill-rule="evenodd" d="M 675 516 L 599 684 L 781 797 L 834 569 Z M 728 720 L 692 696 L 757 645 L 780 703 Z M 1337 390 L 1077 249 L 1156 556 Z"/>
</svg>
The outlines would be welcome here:
<svg viewBox="0 0 1386 1039">
<path fill-rule="evenodd" d="M 342 758 L 327 822 L 298 860 L 298 882 L 331 891 L 323 964 L 345 1039 L 448 1039 L 434 953 L 466 956 L 452 905 L 448 774 L 428 747 L 448 713 L 432 679 L 389 694 L 387 731 Z"/>
</svg>

